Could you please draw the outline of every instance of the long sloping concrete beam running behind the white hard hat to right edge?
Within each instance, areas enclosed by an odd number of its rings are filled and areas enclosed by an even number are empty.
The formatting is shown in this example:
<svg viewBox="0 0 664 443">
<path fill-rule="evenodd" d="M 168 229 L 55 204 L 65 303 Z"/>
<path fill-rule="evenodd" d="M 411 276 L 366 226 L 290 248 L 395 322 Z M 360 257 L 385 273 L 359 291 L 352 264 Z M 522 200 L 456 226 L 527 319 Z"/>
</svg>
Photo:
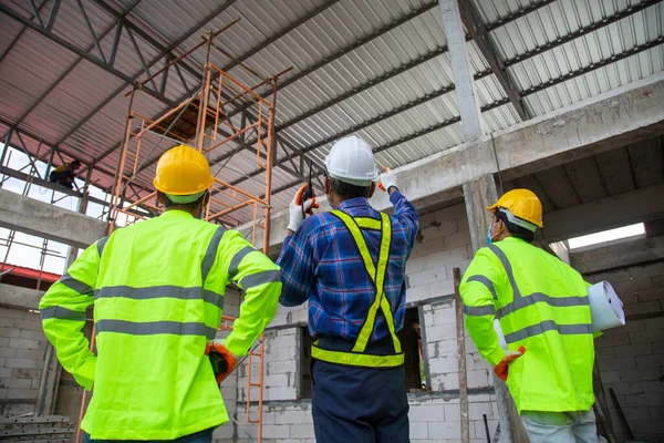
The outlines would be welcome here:
<svg viewBox="0 0 664 443">
<path fill-rule="evenodd" d="M 662 103 L 664 73 L 658 73 L 495 133 L 502 179 L 510 181 L 664 134 Z M 496 174 L 498 167 L 491 138 L 483 136 L 476 143 L 465 143 L 394 172 L 404 195 L 416 206 L 428 207 L 458 198 L 464 183 Z M 380 210 L 392 207 L 382 192 L 376 193 L 371 203 Z M 287 225 L 288 209 L 272 216 L 270 245 L 273 250 L 281 248 Z M 247 233 L 249 225 L 242 230 Z"/>
</svg>

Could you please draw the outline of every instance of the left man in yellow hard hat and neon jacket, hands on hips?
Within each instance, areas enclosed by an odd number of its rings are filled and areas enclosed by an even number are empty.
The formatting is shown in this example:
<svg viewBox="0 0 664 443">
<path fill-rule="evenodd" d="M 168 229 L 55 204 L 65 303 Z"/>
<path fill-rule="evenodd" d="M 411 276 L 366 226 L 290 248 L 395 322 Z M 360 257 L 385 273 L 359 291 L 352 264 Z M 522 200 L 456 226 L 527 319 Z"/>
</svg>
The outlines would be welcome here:
<svg viewBox="0 0 664 443">
<path fill-rule="evenodd" d="M 167 151 L 154 179 L 164 213 L 85 249 L 41 300 L 62 367 L 94 387 L 86 442 L 210 442 L 228 421 L 218 383 L 274 317 L 281 274 L 239 231 L 201 220 L 212 182 L 201 153 Z M 221 343 L 229 281 L 245 301 Z M 93 303 L 96 356 L 82 331 Z"/>
</svg>

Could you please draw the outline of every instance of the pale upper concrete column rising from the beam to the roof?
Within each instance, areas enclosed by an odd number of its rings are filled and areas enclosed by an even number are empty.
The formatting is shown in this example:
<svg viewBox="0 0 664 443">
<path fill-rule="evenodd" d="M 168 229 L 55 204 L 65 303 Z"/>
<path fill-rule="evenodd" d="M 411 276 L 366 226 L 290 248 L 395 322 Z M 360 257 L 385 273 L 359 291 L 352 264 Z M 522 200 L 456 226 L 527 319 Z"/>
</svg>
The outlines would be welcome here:
<svg viewBox="0 0 664 443">
<path fill-rule="evenodd" d="M 461 125 L 466 142 L 475 142 L 483 135 L 479 103 L 473 82 L 473 73 L 468 68 L 466 52 L 466 34 L 457 0 L 439 0 L 443 14 L 443 29 L 449 48 L 449 59 L 454 72 L 454 84 L 459 102 Z"/>
</svg>

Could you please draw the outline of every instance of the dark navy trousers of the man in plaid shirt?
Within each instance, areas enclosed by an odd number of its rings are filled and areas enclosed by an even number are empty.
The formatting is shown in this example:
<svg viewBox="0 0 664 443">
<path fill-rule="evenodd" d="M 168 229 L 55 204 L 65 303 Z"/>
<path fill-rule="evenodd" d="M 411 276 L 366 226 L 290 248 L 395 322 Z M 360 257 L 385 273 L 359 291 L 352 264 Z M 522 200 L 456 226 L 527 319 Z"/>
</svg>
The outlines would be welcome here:
<svg viewBox="0 0 664 443">
<path fill-rule="evenodd" d="M 403 365 L 373 369 L 312 359 L 311 388 L 318 443 L 409 442 Z"/>
</svg>

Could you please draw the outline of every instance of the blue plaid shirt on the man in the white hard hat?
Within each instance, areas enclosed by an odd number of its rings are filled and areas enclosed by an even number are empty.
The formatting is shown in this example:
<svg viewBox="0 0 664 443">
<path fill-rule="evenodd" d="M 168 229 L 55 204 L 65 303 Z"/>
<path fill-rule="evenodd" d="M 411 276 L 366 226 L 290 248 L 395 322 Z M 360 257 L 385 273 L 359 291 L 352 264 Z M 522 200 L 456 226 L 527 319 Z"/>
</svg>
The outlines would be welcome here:
<svg viewBox="0 0 664 443">
<path fill-rule="evenodd" d="M 415 207 L 398 190 L 392 193 L 390 200 L 395 214 L 390 216 L 392 244 L 384 287 L 396 330 L 400 330 L 406 305 L 406 260 L 413 250 L 419 222 Z M 345 200 L 339 210 L 353 217 L 381 218 L 366 198 Z M 375 264 L 381 233 L 364 229 L 362 233 Z M 312 337 L 323 334 L 355 340 L 376 291 L 343 222 L 330 213 L 307 218 L 292 237 L 283 240 L 277 264 L 281 266 L 283 282 L 279 302 L 298 306 L 309 299 L 309 332 Z M 378 313 L 372 341 L 388 334 L 385 318 Z"/>
</svg>

